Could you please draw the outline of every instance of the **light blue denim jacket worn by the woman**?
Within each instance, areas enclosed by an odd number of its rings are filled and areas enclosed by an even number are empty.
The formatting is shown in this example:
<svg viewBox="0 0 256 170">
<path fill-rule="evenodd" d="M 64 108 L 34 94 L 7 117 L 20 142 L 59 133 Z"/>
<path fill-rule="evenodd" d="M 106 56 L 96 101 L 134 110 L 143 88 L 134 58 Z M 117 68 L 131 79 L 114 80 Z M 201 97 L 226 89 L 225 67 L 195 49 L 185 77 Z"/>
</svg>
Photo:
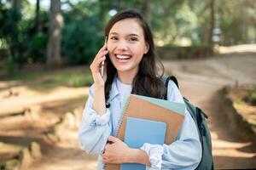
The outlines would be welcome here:
<svg viewBox="0 0 256 170">
<path fill-rule="evenodd" d="M 116 81 L 109 94 L 110 107 L 103 116 L 98 116 L 92 109 L 94 85 L 89 89 L 89 97 L 84 107 L 82 122 L 79 127 L 79 146 L 90 154 L 99 155 L 98 169 L 103 169 L 102 152 L 107 143 L 108 136 L 116 135 L 119 117 L 121 114 L 121 99 Z M 183 103 L 174 82 L 168 84 L 167 99 Z M 162 169 L 195 169 L 201 161 L 201 143 L 195 122 L 189 112 L 185 111 L 185 118 L 180 132 L 180 138 L 172 144 L 163 144 Z"/>
</svg>

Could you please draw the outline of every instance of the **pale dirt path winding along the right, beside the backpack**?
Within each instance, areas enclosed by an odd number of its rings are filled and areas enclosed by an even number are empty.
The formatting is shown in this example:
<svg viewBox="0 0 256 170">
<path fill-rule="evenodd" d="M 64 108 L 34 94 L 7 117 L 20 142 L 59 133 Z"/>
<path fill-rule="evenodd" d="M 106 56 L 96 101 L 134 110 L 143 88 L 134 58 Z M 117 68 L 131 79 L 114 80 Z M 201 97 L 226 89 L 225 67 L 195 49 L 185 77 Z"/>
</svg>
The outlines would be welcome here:
<svg viewBox="0 0 256 170">
<path fill-rule="evenodd" d="M 255 168 L 256 144 L 232 132 L 222 111 L 219 89 L 224 85 L 256 82 L 256 56 L 233 55 L 218 59 L 166 61 L 177 76 L 184 96 L 210 116 L 216 168 Z"/>
</svg>

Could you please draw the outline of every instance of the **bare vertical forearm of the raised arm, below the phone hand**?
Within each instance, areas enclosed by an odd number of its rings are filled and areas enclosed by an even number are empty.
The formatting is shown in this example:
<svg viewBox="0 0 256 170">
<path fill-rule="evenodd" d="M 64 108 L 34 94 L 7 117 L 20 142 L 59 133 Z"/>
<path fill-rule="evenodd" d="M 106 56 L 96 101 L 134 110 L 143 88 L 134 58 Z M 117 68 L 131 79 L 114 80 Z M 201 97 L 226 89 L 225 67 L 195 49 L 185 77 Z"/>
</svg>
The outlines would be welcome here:
<svg viewBox="0 0 256 170">
<path fill-rule="evenodd" d="M 106 112 L 104 87 L 95 87 L 92 108 L 102 116 Z"/>
</svg>

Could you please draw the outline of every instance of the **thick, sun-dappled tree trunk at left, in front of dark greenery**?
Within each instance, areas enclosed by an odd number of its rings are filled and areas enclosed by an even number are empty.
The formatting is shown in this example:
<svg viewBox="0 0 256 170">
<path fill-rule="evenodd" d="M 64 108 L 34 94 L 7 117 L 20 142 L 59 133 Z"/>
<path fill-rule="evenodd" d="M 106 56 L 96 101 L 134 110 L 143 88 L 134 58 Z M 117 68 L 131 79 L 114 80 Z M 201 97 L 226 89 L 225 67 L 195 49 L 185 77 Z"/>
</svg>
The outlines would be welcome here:
<svg viewBox="0 0 256 170">
<path fill-rule="evenodd" d="M 61 1 L 51 0 L 49 8 L 49 41 L 47 44 L 47 65 L 61 65 L 61 27 L 63 19 L 61 15 Z"/>
</svg>

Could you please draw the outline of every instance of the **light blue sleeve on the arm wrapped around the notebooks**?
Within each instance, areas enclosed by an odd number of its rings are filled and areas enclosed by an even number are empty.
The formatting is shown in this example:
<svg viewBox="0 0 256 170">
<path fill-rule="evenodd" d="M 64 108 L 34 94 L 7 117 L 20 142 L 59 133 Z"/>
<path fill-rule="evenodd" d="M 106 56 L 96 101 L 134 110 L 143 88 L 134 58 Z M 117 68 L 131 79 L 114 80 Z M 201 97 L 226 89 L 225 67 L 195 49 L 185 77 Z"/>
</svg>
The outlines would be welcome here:
<svg viewBox="0 0 256 170">
<path fill-rule="evenodd" d="M 176 84 L 172 81 L 170 81 L 168 85 L 168 100 L 184 103 L 182 95 L 180 94 Z M 157 155 L 157 152 L 154 151 L 154 145 L 155 144 L 148 145 L 147 150 L 141 148 L 148 153 L 149 160 L 150 157 Z M 157 150 L 158 153 L 160 150 L 161 149 Z M 161 169 L 195 169 L 195 167 L 200 163 L 201 142 L 195 127 L 195 122 L 187 109 L 185 110 L 180 138 L 172 144 L 163 144 L 162 150 L 163 152 L 160 160 Z M 152 163 L 153 162 L 151 162 L 151 164 Z M 154 166 L 155 165 L 153 165 L 153 167 Z"/>
</svg>

